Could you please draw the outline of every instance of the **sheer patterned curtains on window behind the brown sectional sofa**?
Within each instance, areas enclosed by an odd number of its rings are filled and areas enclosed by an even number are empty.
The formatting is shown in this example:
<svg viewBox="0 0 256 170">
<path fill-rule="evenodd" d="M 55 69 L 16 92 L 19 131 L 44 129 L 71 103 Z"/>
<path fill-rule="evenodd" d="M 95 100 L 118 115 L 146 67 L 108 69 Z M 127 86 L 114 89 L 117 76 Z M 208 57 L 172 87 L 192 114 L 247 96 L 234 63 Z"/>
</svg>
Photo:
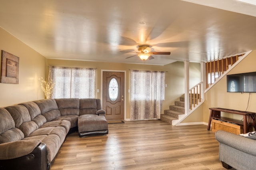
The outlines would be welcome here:
<svg viewBox="0 0 256 170">
<path fill-rule="evenodd" d="M 95 98 L 95 68 L 50 66 L 48 79 L 54 82 L 52 98 Z"/>
</svg>

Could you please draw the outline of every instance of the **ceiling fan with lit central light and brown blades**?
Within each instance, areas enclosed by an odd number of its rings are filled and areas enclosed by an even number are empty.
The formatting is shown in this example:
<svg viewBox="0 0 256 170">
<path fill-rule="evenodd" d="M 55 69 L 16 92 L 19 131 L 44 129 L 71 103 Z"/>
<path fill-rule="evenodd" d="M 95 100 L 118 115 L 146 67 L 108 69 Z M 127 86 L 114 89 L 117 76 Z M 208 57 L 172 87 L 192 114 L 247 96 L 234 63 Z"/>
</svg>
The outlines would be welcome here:
<svg viewBox="0 0 256 170">
<path fill-rule="evenodd" d="M 126 52 L 126 53 L 137 53 L 136 55 L 127 57 L 126 59 L 129 59 L 131 57 L 135 57 L 138 55 L 138 57 L 140 57 L 141 60 L 145 61 L 147 59 L 151 60 L 154 59 L 154 57 L 152 55 L 170 55 L 171 52 L 156 52 L 156 51 L 151 51 L 151 47 L 150 45 L 138 45 L 138 51 L 139 52 L 128 52 L 128 51 L 121 51 L 121 52 Z"/>
</svg>

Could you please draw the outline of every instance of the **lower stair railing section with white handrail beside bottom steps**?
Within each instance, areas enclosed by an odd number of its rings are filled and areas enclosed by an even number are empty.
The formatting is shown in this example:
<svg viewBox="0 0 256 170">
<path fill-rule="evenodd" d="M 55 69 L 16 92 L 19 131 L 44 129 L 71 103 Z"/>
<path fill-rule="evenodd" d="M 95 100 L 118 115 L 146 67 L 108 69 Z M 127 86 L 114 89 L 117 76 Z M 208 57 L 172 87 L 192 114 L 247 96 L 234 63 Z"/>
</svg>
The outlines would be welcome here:
<svg viewBox="0 0 256 170">
<path fill-rule="evenodd" d="M 190 101 L 190 110 L 192 110 L 193 107 L 196 107 L 201 102 L 201 87 L 203 82 L 200 82 L 196 84 L 196 86 L 190 88 L 190 95 L 189 95 L 189 101 Z M 192 107 L 193 106 L 193 107 Z"/>
</svg>

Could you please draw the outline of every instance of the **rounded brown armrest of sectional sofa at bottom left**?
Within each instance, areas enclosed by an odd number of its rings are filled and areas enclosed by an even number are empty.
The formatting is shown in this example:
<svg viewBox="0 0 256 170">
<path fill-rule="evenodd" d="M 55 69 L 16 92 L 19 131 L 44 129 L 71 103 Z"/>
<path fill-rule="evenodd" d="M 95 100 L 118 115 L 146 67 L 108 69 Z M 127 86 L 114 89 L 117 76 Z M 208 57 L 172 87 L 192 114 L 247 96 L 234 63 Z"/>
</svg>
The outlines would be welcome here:
<svg viewBox="0 0 256 170">
<path fill-rule="evenodd" d="M 18 158 L 32 152 L 40 143 L 41 140 L 20 140 L 0 144 L 0 160 Z"/>
</svg>

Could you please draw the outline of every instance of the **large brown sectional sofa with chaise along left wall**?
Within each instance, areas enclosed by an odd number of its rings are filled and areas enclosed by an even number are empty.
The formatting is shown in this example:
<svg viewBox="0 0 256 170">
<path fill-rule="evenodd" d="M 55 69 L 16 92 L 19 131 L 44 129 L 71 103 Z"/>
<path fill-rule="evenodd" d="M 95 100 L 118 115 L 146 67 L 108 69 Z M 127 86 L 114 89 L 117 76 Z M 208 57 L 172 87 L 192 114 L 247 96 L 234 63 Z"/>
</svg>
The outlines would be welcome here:
<svg viewBox="0 0 256 170">
<path fill-rule="evenodd" d="M 0 170 L 49 169 L 68 133 L 77 130 L 80 137 L 108 134 L 99 99 L 46 99 L 0 108 Z"/>
</svg>

